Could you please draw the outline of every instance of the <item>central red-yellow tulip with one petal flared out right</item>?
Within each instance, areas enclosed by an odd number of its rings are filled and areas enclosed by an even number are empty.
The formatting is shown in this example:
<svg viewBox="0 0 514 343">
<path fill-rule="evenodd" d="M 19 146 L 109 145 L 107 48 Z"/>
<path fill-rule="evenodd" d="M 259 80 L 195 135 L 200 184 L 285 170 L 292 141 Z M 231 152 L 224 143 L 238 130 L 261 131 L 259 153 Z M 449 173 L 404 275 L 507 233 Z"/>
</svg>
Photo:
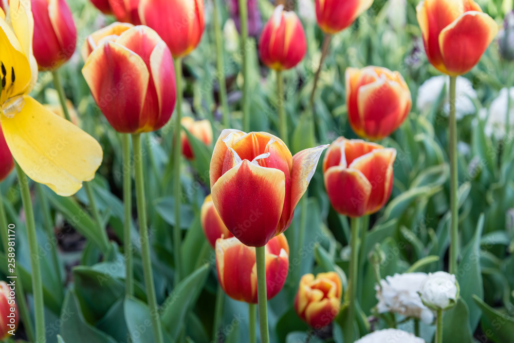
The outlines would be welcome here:
<svg viewBox="0 0 514 343">
<path fill-rule="evenodd" d="M 228 230 L 249 246 L 264 246 L 284 232 L 327 146 L 293 157 L 280 138 L 266 132 L 223 130 L 210 180 L 212 200 Z"/>
</svg>

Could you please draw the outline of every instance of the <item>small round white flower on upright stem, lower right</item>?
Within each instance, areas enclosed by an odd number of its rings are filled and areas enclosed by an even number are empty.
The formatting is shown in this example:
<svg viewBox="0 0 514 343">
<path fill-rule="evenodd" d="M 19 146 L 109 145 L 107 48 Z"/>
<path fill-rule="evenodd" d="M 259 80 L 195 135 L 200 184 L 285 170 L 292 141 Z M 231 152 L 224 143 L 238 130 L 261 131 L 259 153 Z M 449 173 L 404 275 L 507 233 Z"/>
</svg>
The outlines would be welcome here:
<svg viewBox="0 0 514 343">
<path fill-rule="evenodd" d="M 455 275 L 446 272 L 430 273 L 421 284 L 419 295 L 426 306 L 446 310 L 455 305 L 458 284 Z"/>
</svg>

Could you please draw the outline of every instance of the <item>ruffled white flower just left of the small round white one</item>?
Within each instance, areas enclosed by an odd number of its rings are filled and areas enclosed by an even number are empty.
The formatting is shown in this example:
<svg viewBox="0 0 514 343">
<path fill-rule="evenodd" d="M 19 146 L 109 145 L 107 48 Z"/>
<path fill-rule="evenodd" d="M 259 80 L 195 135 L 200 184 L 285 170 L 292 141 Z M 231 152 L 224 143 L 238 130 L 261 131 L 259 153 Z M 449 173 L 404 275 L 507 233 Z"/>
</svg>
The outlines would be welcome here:
<svg viewBox="0 0 514 343">
<path fill-rule="evenodd" d="M 377 310 L 379 313 L 394 312 L 406 317 L 421 319 L 430 324 L 434 320 L 434 314 L 427 308 L 418 291 L 421 284 L 427 279 L 426 273 L 406 273 L 387 276 L 380 280 L 375 290 L 378 299 Z"/>
</svg>

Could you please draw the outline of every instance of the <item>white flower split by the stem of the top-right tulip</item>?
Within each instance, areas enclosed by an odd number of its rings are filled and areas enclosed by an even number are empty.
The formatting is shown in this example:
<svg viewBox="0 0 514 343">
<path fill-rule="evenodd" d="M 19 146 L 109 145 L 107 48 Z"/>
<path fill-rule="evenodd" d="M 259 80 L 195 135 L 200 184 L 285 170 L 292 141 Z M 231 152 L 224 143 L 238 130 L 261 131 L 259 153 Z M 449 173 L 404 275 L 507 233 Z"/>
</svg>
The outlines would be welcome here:
<svg viewBox="0 0 514 343">
<path fill-rule="evenodd" d="M 434 106 L 439 94 L 446 83 L 444 111 L 450 112 L 449 78 L 447 75 L 440 75 L 428 79 L 418 89 L 416 106 L 420 112 L 427 111 Z M 471 99 L 477 99 L 473 84 L 466 78 L 457 77 L 455 84 L 455 116 L 462 119 L 464 116 L 472 115 L 476 108 Z"/>
</svg>

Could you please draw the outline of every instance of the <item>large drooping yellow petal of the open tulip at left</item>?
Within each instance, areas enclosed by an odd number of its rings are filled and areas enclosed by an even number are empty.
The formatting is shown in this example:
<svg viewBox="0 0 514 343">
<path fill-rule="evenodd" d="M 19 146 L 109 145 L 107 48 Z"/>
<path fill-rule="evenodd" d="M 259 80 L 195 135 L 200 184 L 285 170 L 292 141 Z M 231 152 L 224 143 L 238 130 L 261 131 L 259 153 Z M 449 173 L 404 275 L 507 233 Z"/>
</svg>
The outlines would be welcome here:
<svg viewBox="0 0 514 343">
<path fill-rule="evenodd" d="M 6 106 L 15 104 L 19 112 L 6 111 Z M 82 187 L 82 181 L 95 177 L 103 153 L 93 137 L 29 96 L 12 99 L 2 109 L 0 123 L 7 145 L 32 180 L 58 195 L 70 196 Z"/>
</svg>

